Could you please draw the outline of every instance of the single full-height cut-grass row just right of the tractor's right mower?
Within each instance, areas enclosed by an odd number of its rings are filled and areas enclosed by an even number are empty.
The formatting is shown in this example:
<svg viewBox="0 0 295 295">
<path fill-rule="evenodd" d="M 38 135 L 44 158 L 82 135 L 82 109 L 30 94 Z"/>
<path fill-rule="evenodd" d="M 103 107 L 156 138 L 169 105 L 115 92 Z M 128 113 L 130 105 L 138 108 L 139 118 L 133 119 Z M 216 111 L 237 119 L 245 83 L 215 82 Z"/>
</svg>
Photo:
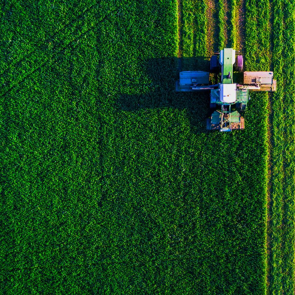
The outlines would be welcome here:
<svg viewBox="0 0 295 295">
<path fill-rule="evenodd" d="M 283 220 L 283 10 L 282 1 L 273 1 L 273 70 L 277 78 L 277 91 L 273 94 L 273 169 L 271 214 L 271 272 L 269 294 L 280 294 L 282 286 L 282 220 Z"/>
</svg>

